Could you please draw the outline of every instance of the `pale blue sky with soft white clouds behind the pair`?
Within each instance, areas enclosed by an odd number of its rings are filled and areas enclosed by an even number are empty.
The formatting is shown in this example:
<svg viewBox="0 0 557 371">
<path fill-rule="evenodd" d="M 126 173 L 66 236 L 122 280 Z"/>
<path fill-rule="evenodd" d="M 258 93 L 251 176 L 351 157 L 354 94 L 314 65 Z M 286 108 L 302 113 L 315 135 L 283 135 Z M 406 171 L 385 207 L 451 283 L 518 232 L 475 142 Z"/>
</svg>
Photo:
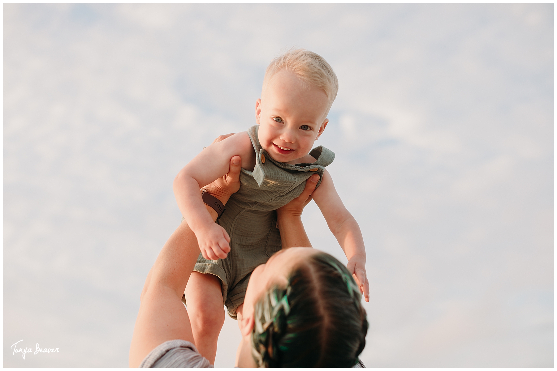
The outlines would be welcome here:
<svg viewBox="0 0 557 371">
<path fill-rule="evenodd" d="M 364 363 L 553 366 L 553 4 L 5 4 L 5 367 L 126 367 L 174 176 L 292 46 L 339 77 L 316 145 L 366 244 Z"/>
</svg>

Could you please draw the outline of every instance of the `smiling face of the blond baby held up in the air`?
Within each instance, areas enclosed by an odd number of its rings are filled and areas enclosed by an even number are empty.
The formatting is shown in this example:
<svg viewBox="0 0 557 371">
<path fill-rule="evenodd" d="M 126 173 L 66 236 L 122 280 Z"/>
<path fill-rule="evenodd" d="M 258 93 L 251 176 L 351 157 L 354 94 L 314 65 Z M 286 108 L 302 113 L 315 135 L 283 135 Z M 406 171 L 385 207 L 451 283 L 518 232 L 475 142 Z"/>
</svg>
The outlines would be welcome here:
<svg viewBox="0 0 557 371">
<path fill-rule="evenodd" d="M 291 72 L 277 72 L 255 106 L 259 142 L 273 159 L 291 162 L 309 154 L 329 120 L 324 91 L 305 88 Z"/>
</svg>

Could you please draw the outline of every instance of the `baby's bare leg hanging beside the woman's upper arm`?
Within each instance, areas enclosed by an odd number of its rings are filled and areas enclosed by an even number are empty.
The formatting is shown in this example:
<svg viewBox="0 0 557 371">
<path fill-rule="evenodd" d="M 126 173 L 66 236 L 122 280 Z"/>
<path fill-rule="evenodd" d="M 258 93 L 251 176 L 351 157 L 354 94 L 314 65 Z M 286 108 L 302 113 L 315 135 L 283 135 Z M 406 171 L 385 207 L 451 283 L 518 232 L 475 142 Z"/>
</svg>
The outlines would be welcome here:
<svg viewBox="0 0 557 371">
<path fill-rule="evenodd" d="M 218 334 L 224 324 L 221 280 L 216 275 L 192 272 L 185 286 L 185 300 L 197 350 L 214 364 Z"/>
</svg>

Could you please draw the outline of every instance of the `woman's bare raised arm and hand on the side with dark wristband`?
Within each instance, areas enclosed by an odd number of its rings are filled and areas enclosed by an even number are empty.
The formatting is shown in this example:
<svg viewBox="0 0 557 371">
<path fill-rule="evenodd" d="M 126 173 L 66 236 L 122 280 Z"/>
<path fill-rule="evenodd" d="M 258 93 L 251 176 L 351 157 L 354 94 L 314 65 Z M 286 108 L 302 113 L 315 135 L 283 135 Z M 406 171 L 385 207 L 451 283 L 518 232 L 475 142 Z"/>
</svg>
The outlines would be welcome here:
<svg viewBox="0 0 557 371">
<path fill-rule="evenodd" d="M 214 182 L 219 185 L 219 192 L 213 195 L 223 204 L 240 187 L 240 169 L 240 157 L 235 156 L 228 174 Z M 209 206 L 207 210 L 214 222 L 217 212 Z M 168 340 L 194 343 L 182 295 L 198 255 L 196 235 L 184 221 L 164 244 L 145 281 L 131 338 L 130 367 L 138 367 L 149 352 Z"/>
</svg>

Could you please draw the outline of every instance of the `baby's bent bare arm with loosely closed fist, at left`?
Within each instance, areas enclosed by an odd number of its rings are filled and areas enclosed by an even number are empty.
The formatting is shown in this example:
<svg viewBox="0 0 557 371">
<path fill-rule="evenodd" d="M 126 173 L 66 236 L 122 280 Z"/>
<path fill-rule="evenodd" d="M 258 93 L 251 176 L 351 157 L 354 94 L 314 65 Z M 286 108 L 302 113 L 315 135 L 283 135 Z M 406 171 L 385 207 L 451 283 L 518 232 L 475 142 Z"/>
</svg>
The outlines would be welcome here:
<svg viewBox="0 0 557 371">
<path fill-rule="evenodd" d="M 174 196 L 185 221 L 196 234 L 199 248 L 211 248 L 219 258 L 229 251 L 228 234 L 209 215 L 200 188 L 227 174 L 233 156 L 250 159 L 253 146 L 247 132 L 214 143 L 194 157 L 174 179 Z"/>
</svg>

